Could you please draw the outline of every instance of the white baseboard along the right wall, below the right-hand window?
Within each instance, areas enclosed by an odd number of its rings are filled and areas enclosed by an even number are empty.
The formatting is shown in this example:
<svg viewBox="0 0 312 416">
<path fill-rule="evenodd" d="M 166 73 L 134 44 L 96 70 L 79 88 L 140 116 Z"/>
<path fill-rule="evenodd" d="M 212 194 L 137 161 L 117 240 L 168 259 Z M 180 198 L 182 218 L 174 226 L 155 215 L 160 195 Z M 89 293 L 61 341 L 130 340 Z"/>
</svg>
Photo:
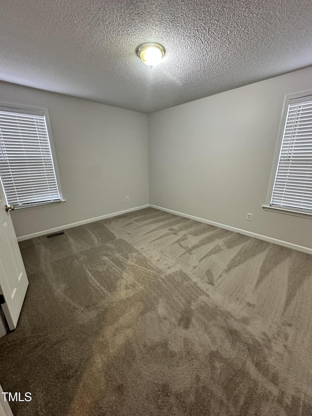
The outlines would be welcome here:
<svg viewBox="0 0 312 416">
<path fill-rule="evenodd" d="M 277 238 L 262 236 L 261 234 L 252 233 L 251 231 L 241 230 L 240 228 L 231 227 L 230 225 L 220 224 L 219 222 L 210 221 L 209 219 L 194 217 L 193 215 L 184 214 L 182 212 L 174 211 L 172 209 L 158 207 L 157 205 L 150 204 L 151 208 L 159 209 L 160 211 L 165 211 L 170 214 L 175 214 L 180 217 L 194 219 L 195 221 L 204 222 L 205 224 L 214 225 L 215 227 L 224 228 L 225 230 L 234 231 L 234 233 L 243 234 L 248 237 L 258 238 L 259 240 L 264 240 L 269 243 L 277 244 L 283 247 L 292 248 L 293 250 L 302 251 L 303 253 L 312 254 L 312 249 L 305 246 L 300 246 L 297 244 L 290 243 L 288 241 L 278 240 Z"/>
</svg>

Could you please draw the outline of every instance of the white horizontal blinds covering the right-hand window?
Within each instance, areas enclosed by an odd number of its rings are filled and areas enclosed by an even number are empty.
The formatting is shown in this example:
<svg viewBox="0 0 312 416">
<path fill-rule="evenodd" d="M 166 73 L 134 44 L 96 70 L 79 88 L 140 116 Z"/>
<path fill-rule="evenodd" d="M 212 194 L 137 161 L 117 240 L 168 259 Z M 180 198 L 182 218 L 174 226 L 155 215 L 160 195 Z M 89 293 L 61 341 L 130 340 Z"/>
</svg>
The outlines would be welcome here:
<svg viewBox="0 0 312 416">
<path fill-rule="evenodd" d="M 308 99 L 288 105 L 271 205 L 312 212 L 312 97 Z"/>
</svg>

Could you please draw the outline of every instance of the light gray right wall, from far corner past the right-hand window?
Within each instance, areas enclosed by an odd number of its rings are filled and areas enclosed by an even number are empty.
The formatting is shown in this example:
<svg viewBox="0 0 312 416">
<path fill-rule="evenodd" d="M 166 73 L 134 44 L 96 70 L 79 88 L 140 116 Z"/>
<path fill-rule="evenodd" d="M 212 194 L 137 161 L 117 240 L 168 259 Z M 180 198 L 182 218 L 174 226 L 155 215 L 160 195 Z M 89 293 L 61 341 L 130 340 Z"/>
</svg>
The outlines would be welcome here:
<svg viewBox="0 0 312 416">
<path fill-rule="evenodd" d="M 312 218 L 261 207 L 284 96 L 309 88 L 312 68 L 149 115 L 150 203 L 312 248 Z"/>
</svg>

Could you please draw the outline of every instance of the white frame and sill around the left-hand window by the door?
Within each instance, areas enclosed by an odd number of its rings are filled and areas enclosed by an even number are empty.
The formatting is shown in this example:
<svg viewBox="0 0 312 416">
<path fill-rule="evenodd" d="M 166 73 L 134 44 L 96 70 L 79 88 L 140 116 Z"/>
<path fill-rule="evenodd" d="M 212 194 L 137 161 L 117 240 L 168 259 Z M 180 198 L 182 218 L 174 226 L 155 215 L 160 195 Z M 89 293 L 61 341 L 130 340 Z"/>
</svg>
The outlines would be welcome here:
<svg viewBox="0 0 312 416">
<path fill-rule="evenodd" d="M 54 170 L 55 170 L 55 176 L 56 176 L 56 180 L 57 180 L 57 186 L 58 186 L 58 190 L 59 190 L 60 200 L 47 201 L 47 202 L 36 202 L 36 203 L 30 204 L 30 205 L 17 206 L 17 207 L 15 207 L 15 211 L 17 211 L 17 210 L 27 211 L 27 210 L 30 210 L 30 209 L 42 208 L 44 206 L 57 205 L 57 204 L 61 204 L 63 202 L 66 202 L 66 199 L 64 198 L 63 191 L 62 191 L 61 182 L 60 182 L 59 166 L 58 166 L 58 160 L 57 160 L 57 155 L 56 155 L 55 146 L 54 146 L 54 139 L 53 139 L 53 134 L 52 134 L 52 128 L 51 128 L 48 109 L 47 108 L 42 108 L 42 107 L 35 107 L 35 106 L 32 106 L 32 105 L 16 104 L 16 103 L 12 103 L 12 102 L 0 101 L 0 111 L 8 111 L 8 112 L 12 111 L 12 112 L 21 113 L 21 114 L 31 114 L 31 115 L 44 116 L 46 127 L 47 127 L 48 139 L 49 139 L 49 143 L 50 143 L 53 166 L 54 166 Z M 1 180 L 1 178 L 0 178 L 0 180 Z M 2 184 L 1 184 L 1 186 L 4 190 L 4 187 L 3 187 Z M 6 197 L 6 194 L 5 194 L 5 190 L 4 190 L 4 195 L 5 195 L 6 203 L 8 204 L 7 197 Z"/>
</svg>

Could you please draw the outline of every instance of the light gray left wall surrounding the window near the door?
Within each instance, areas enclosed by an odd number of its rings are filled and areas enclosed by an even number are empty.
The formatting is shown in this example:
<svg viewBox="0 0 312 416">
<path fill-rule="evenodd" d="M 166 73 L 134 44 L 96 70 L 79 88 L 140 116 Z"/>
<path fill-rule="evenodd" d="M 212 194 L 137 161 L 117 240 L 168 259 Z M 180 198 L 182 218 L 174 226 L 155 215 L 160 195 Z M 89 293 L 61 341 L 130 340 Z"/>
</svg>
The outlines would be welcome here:
<svg viewBox="0 0 312 416">
<path fill-rule="evenodd" d="M 14 211 L 18 237 L 148 203 L 145 114 L 4 82 L 0 100 L 49 110 L 66 199 Z"/>
</svg>

